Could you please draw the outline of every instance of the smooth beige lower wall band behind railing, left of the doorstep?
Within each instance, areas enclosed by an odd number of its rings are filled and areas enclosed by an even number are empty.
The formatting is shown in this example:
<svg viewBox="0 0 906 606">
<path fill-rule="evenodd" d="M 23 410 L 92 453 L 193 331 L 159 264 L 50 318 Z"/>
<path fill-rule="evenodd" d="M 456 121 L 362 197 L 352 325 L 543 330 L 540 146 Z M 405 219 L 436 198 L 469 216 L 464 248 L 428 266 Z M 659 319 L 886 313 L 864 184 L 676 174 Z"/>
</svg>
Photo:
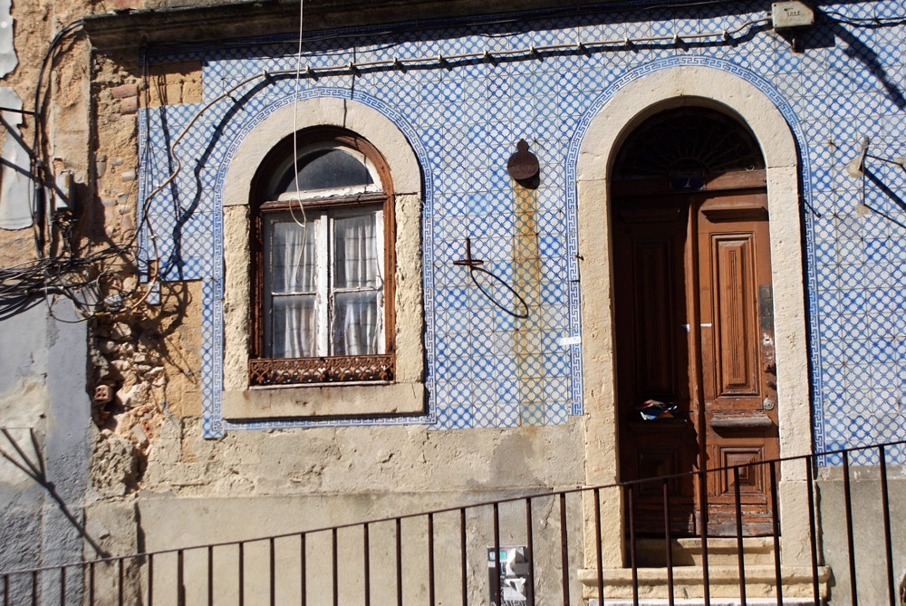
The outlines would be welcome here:
<svg viewBox="0 0 906 606">
<path fill-rule="evenodd" d="M 464 495 L 460 492 L 435 491 L 433 505 L 462 504 L 479 498 L 504 498 L 521 491 L 500 490 L 484 494 Z M 387 495 L 309 495 L 254 498 L 211 499 L 148 499 L 140 505 L 141 520 L 153 537 L 152 545 L 198 544 L 198 539 L 210 537 L 239 539 L 249 532 L 265 535 L 276 520 L 284 527 L 300 529 L 314 519 L 330 520 L 331 524 L 363 519 L 381 519 L 418 511 L 429 505 L 424 493 L 397 492 Z M 263 508 L 266 507 L 266 510 Z M 556 496 L 537 499 L 533 505 L 535 542 L 535 571 L 537 596 L 542 601 L 559 601 L 561 590 L 560 521 Z M 249 512 L 256 515 L 248 517 Z M 499 510 L 500 542 L 502 545 L 525 545 L 525 502 L 502 505 Z M 190 516 L 197 522 L 194 528 L 174 527 L 175 515 Z M 231 524 L 242 519 L 243 524 Z M 289 520 L 290 522 L 286 522 Z M 582 558 L 581 509 L 576 496 L 567 502 L 568 549 L 570 570 L 577 570 Z M 460 601 L 462 569 L 460 567 L 460 517 L 458 511 L 438 514 L 434 518 L 435 583 L 438 603 Z M 494 545 L 493 517 L 490 507 L 469 509 L 466 514 L 466 569 L 469 603 L 488 603 L 487 548 Z M 403 577 L 404 602 L 427 602 L 429 596 L 429 539 L 426 517 L 404 519 L 400 523 L 400 562 Z M 390 520 L 369 525 L 369 567 L 372 603 L 394 603 L 396 600 L 396 540 L 397 526 Z M 333 537 L 327 533 L 305 535 L 306 586 L 309 603 L 331 603 L 333 593 Z M 365 582 L 364 538 L 361 526 L 337 533 L 337 580 L 340 603 L 363 602 Z M 275 541 L 275 592 L 277 601 L 298 601 L 300 586 L 300 539 L 287 536 Z M 246 603 L 266 603 L 269 594 L 268 542 L 246 543 L 245 596 Z M 174 556 L 162 557 L 155 564 L 155 594 L 172 595 L 175 583 Z M 235 599 L 238 591 L 238 550 L 235 545 L 218 547 L 214 551 L 218 563 L 214 587 L 217 595 Z M 207 593 L 207 551 L 188 552 L 185 556 L 187 595 Z M 145 572 L 145 570 L 142 570 Z M 141 587 L 147 591 L 147 578 Z M 580 595 L 578 579 L 570 575 L 571 594 Z"/>
</svg>

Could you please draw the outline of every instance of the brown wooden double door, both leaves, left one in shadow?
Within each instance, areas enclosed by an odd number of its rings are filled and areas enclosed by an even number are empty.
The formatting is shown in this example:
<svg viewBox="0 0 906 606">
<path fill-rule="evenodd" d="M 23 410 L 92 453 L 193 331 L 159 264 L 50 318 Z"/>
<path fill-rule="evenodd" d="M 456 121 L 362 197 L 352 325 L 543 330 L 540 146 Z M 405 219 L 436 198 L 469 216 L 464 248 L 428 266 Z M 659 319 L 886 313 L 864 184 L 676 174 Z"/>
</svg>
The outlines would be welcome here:
<svg viewBox="0 0 906 606">
<path fill-rule="evenodd" d="M 763 190 L 622 197 L 613 207 L 622 479 L 776 457 L 770 255 Z M 646 401 L 670 414 L 641 418 Z M 740 468 L 747 534 L 770 531 L 766 468 Z M 671 532 L 735 532 L 732 471 L 666 485 Z M 637 531 L 664 529 L 664 483 L 633 489 Z"/>
</svg>

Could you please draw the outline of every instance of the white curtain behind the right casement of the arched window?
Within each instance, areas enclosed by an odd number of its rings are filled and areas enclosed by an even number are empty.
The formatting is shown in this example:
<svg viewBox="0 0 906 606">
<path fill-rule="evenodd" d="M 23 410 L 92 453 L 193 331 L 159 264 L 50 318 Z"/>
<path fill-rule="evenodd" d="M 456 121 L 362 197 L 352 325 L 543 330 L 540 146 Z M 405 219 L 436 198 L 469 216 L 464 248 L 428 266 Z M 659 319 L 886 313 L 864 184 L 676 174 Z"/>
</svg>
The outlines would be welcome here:
<svg viewBox="0 0 906 606">
<path fill-rule="evenodd" d="M 336 292 L 333 297 L 333 355 L 367 355 L 379 351 L 377 215 L 333 222 L 334 287 L 368 289 Z"/>
</svg>

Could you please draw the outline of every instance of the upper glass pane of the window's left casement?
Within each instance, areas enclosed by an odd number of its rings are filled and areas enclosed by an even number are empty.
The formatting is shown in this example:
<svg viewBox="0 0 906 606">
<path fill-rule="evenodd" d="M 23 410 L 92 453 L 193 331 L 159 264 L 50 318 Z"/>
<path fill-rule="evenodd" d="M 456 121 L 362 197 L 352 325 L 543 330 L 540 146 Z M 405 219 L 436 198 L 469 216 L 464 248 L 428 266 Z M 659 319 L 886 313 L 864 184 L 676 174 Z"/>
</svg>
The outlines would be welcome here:
<svg viewBox="0 0 906 606">
<path fill-rule="evenodd" d="M 300 213 L 296 218 L 302 221 Z M 289 213 L 268 216 L 272 222 L 269 248 L 271 292 L 312 293 L 315 289 L 314 223 L 296 223 Z"/>
</svg>

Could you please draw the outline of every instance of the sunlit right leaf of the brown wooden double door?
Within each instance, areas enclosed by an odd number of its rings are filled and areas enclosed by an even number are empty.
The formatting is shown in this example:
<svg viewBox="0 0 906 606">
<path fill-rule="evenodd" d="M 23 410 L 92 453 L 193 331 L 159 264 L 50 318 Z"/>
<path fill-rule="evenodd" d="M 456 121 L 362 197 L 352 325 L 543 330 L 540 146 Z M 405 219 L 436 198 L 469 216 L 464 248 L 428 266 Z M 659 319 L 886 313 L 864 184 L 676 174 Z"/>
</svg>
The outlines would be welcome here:
<svg viewBox="0 0 906 606">
<path fill-rule="evenodd" d="M 778 455 L 773 326 L 763 322 L 761 293 L 771 265 L 763 193 L 701 197 L 699 310 L 704 442 L 708 468 L 747 466 Z M 767 409 L 769 408 L 769 409 Z M 769 469 L 739 467 L 747 534 L 770 525 Z M 708 482 L 708 533 L 735 534 L 733 470 Z"/>
</svg>

